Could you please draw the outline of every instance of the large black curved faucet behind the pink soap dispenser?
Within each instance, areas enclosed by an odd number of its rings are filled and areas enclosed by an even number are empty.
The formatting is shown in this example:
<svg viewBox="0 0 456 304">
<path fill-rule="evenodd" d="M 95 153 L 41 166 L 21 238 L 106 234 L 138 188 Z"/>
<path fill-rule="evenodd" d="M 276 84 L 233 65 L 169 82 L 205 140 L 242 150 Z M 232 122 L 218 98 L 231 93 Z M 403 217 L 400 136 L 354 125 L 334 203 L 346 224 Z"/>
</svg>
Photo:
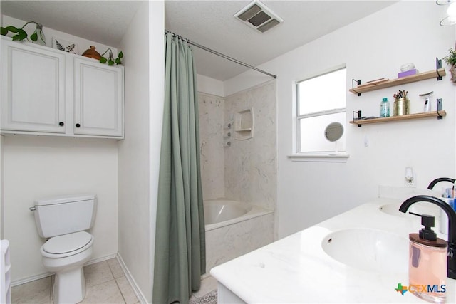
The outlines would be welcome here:
<svg viewBox="0 0 456 304">
<path fill-rule="evenodd" d="M 447 253 L 447 277 L 456 279 L 456 212 L 452 207 L 434 196 L 417 195 L 406 199 L 399 208 L 399 211 L 405 213 L 408 208 L 419 201 L 427 201 L 436 204 L 445 211 L 448 216 L 448 253 Z"/>
</svg>

